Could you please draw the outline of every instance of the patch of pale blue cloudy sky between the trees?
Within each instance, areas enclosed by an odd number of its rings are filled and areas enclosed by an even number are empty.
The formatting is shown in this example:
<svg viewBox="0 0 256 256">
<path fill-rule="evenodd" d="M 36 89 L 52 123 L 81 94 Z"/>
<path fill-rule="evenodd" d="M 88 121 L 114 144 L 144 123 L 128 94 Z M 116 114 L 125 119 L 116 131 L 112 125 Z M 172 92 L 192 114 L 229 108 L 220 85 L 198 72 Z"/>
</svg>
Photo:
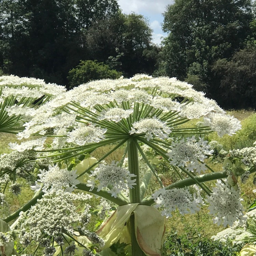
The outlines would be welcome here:
<svg viewBox="0 0 256 256">
<path fill-rule="evenodd" d="M 161 37 L 166 36 L 161 29 L 162 13 L 166 10 L 166 6 L 172 3 L 172 0 L 118 0 L 123 13 L 135 12 L 148 18 L 153 29 L 153 42 L 156 44 L 160 44 Z"/>
</svg>

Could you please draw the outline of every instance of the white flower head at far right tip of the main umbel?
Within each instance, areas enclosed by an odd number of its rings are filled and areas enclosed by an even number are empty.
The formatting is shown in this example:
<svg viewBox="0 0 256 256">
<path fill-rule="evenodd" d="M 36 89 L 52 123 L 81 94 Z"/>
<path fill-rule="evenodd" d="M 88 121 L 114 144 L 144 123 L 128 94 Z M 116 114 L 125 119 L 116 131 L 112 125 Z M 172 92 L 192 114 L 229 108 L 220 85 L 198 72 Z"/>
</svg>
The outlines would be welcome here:
<svg viewBox="0 0 256 256">
<path fill-rule="evenodd" d="M 210 113 L 207 117 L 204 117 L 204 120 L 205 125 L 209 126 L 212 131 L 216 131 L 219 137 L 224 134 L 232 136 L 242 128 L 237 118 L 221 113 Z"/>
</svg>

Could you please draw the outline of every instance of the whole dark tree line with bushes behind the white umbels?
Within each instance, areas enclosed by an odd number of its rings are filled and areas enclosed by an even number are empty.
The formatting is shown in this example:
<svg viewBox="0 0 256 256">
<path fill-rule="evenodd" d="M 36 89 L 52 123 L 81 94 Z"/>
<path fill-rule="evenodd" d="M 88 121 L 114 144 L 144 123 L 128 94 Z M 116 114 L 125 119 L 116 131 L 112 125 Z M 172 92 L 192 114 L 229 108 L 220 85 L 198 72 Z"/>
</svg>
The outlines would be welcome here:
<svg viewBox="0 0 256 256">
<path fill-rule="evenodd" d="M 68 85 L 174 76 L 224 108 L 255 108 L 256 4 L 175 0 L 163 13 L 168 36 L 152 43 L 148 20 L 116 0 L 0 1 L 0 73 Z"/>
</svg>

